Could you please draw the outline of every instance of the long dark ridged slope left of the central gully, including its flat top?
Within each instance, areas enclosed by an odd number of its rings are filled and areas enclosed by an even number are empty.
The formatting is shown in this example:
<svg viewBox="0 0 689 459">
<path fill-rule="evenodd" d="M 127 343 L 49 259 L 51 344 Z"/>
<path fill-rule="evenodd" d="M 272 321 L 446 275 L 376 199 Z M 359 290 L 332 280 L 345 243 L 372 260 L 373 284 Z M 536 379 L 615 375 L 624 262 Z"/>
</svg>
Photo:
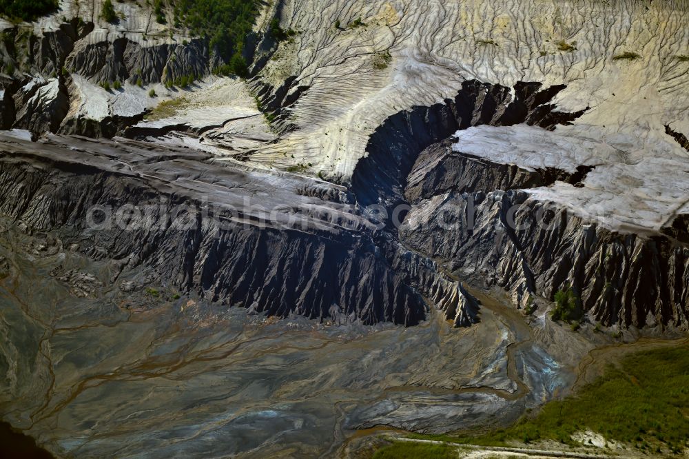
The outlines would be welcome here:
<svg viewBox="0 0 689 459">
<path fill-rule="evenodd" d="M 426 315 L 423 294 L 457 325 L 475 321 L 475 300 L 460 285 L 431 261 L 377 236 L 375 224 L 332 185 L 321 197 L 305 196 L 299 191 L 304 180 L 241 172 L 214 166 L 204 154 L 132 143 L 55 137 L 40 152 L 33 149 L 30 143 L 5 145 L 0 212 L 27 227 L 58 232 L 65 244 L 78 244 L 92 258 L 112 258 L 123 269 L 144 269 L 209 300 L 282 317 L 415 325 Z M 87 151 L 93 153 L 85 160 Z M 124 170 L 123 163 L 129 165 Z M 180 185 L 182 170 L 199 178 Z M 280 196 L 245 204 L 274 187 Z M 209 214 L 200 210 L 204 196 L 218 203 Z M 325 201 L 329 196 L 336 201 Z M 88 213 L 124 203 L 147 209 L 145 216 L 115 225 Z M 262 209 L 274 210 L 272 218 Z M 89 294 L 79 285 L 76 291 Z"/>
</svg>

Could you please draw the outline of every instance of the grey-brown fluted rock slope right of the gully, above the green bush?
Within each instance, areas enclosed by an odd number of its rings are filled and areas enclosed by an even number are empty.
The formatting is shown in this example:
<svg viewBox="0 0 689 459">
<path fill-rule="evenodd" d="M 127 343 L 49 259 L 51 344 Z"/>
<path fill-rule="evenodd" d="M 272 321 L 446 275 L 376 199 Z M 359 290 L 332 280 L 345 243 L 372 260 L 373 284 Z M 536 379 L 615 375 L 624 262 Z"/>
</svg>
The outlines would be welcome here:
<svg viewBox="0 0 689 459">
<path fill-rule="evenodd" d="M 466 221 L 470 206 L 473 222 Z M 424 228 L 415 227 L 421 213 L 430 215 Z M 548 215 L 546 227 L 536 218 L 542 215 Z M 525 192 L 436 196 L 410 212 L 401 233 L 405 243 L 460 276 L 504 287 L 522 307 L 531 303 L 530 294 L 553 298 L 571 286 L 604 325 L 689 325 L 686 245 L 617 234 Z"/>
</svg>

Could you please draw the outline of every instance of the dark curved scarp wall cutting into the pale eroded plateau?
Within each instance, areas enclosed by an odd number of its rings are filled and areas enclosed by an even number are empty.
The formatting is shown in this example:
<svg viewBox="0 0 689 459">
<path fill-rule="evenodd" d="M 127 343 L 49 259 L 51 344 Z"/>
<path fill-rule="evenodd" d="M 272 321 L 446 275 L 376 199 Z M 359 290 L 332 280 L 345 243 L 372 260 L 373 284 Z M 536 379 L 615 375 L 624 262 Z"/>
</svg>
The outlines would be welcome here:
<svg viewBox="0 0 689 459">
<path fill-rule="evenodd" d="M 395 204 L 403 201 L 407 175 L 420 151 L 457 130 L 517 123 L 552 128 L 577 119 L 586 108 L 562 113 L 550 103 L 562 89 L 564 86 L 518 83 L 512 92 L 500 85 L 465 81 L 453 100 L 391 116 L 371 135 L 368 156 L 354 170 L 351 185 L 358 201 L 364 205 L 377 203 L 379 198 Z"/>
</svg>

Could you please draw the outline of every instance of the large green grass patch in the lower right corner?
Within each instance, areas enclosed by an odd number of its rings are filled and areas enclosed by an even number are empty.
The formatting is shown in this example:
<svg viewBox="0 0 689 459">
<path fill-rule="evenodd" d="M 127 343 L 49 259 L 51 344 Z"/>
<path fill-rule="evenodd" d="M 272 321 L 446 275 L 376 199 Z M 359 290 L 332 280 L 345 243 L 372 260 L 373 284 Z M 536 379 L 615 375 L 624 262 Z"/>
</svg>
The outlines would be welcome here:
<svg viewBox="0 0 689 459">
<path fill-rule="evenodd" d="M 627 356 L 619 367 L 564 400 L 548 402 L 536 416 L 480 435 L 424 436 L 446 442 L 504 446 L 556 440 L 573 444 L 577 431 L 595 431 L 648 453 L 678 453 L 689 446 L 689 346 Z"/>
</svg>

